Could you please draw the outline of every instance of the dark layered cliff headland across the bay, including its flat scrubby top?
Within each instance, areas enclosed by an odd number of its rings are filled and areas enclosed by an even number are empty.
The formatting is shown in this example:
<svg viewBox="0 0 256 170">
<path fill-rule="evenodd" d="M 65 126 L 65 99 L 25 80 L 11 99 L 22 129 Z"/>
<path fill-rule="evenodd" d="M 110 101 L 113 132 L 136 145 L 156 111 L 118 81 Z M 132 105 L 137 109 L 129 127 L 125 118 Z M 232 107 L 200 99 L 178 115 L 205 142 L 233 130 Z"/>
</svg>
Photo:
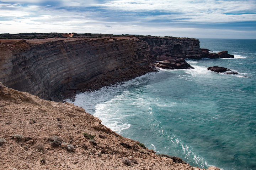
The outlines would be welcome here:
<svg viewBox="0 0 256 170">
<path fill-rule="evenodd" d="M 192 68 L 184 58 L 232 57 L 227 51 L 209 53 L 194 38 L 82 35 L 1 34 L 0 82 L 46 100 L 62 101 L 156 71 L 152 64 L 184 69 Z"/>
</svg>

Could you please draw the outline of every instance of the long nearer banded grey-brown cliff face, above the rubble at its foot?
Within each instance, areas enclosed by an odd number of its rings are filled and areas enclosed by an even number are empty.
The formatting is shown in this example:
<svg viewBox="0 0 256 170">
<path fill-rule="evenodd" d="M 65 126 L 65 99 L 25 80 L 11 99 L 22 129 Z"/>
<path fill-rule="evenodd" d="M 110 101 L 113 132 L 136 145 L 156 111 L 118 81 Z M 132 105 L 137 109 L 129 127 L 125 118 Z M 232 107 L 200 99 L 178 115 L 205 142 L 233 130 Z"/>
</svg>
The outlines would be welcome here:
<svg viewBox="0 0 256 170">
<path fill-rule="evenodd" d="M 141 40 L 26 40 L 0 43 L 0 82 L 9 88 L 49 99 L 70 82 L 82 83 L 116 69 L 148 63 Z"/>
</svg>

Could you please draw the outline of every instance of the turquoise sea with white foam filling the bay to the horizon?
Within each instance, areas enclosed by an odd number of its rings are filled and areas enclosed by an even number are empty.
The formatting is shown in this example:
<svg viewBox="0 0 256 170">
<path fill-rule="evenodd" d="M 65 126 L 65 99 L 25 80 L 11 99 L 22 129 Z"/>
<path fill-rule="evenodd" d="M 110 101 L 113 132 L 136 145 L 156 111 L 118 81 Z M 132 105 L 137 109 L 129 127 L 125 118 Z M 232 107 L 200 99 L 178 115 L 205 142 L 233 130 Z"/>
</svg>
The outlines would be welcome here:
<svg viewBox="0 0 256 170">
<path fill-rule="evenodd" d="M 76 96 L 75 105 L 124 137 L 191 166 L 256 169 L 256 40 L 199 39 L 235 58 L 186 61 L 195 69 L 148 73 Z M 215 73 L 210 66 L 237 75 Z"/>
</svg>

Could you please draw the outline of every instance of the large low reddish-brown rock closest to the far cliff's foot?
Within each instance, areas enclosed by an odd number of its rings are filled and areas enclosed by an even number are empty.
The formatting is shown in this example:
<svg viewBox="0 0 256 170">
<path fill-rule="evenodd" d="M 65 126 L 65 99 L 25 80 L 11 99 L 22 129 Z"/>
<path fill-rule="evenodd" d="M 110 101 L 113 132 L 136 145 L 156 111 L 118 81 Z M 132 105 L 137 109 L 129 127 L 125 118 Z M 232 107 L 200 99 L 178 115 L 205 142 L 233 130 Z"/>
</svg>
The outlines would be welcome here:
<svg viewBox="0 0 256 170">
<path fill-rule="evenodd" d="M 193 69 L 183 58 L 160 61 L 154 66 L 163 69 Z"/>
</svg>

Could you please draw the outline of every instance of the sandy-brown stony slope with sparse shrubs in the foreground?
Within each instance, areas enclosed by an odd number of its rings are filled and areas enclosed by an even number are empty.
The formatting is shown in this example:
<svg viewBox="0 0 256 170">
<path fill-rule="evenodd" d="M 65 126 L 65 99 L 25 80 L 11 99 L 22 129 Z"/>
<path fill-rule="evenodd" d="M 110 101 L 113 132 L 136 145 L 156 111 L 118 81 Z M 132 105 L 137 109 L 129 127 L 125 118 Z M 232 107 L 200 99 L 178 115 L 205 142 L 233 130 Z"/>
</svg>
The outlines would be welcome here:
<svg viewBox="0 0 256 170">
<path fill-rule="evenodd" d="M 116 134 L 81 107 L 0 85 L 0 169 L 199 170 Z"/>
</svg>

